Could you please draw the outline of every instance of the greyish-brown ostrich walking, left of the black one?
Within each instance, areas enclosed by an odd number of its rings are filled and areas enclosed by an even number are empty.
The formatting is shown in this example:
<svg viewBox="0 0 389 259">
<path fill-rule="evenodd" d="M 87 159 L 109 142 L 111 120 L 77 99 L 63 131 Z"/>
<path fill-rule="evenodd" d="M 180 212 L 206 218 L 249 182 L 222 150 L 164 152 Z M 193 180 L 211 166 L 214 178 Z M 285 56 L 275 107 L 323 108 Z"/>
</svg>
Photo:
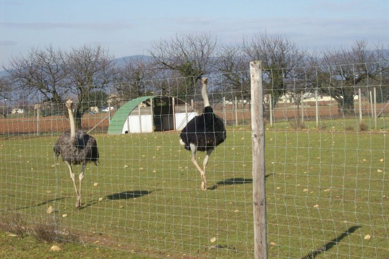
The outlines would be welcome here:
<svg viewBox="0 0 389 259">
<path fill-rule="evenodd" d="M 61 135 L 55 143 L 53 149 L 56 157 L 62 156 L 62 160 L 69 167 L 70 178 L 72 178 L 74 190 L 77 195 L 76 207 L 81 207 L 81 182 L 84 178 L 85 165 L 89 162 L 94 162 L 97 165 L 99 159 L 99 150 L 97 149 L 97 141 L 88 133 L 78 130 L 76 132 L 74 126 L 74 118 L 72 112 L 72 100 L 66 102 L 66 107 L 69 112 L 70 133 Z M 80 187 L 77 190 L 72 164 L 82 164 L 81 174 L 78 175 Z"/>
</svg>

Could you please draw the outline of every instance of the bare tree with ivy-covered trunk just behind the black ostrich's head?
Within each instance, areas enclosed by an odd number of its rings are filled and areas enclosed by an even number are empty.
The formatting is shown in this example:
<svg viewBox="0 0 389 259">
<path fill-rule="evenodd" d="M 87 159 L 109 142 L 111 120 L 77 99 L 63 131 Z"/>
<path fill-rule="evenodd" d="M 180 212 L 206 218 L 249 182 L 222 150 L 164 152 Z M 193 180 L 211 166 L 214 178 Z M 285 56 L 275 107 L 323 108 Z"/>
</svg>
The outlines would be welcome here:
<svg viewBox="0 0 389 259">
<path fill-rule="evenodd" d="M 176 71 L 184 78 L 193 79 L 173 90 L 176 95 L 188 95 L 195 92 L 197 82 L 209 72 L 217 46 L 217 38 L 209 33 L 183 33 L 154 42 L 149 55 L 157 69 Z"/>
</svg>

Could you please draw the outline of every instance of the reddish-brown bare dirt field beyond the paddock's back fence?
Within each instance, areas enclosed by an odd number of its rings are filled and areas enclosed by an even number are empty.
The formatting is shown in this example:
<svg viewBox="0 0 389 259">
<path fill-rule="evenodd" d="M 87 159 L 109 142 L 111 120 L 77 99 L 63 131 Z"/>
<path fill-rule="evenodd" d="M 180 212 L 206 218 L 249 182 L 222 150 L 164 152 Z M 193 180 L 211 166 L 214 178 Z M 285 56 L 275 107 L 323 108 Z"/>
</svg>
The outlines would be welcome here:
<svg viewBox="0 0 389 259">
<path fill-rule="evenodd" d="M 382 110 L 386 103 L 377 104 L 377 114 Z M 235 112 L 233 105 L 226 105 L 225 111 L 223 112 L 223 105 L 215 105 L 214 112 L 221 118 L 225 118 L 227 125 L 235 125 L 236 118 L 238 124 L 249 124 L 251 121 L 250 114 L 250 105 L 246 104 L 244 107 L 239 105 L 237 111 Z M 319 110 L 319 119 L 327 120 L 343 117 L 344 115 L 338 109 L 337 105 L 320 105 Z M 201 111 L 198 111 L 201 113 Z M 111 118 L 115 112 L 111 113 Z M 384 114 L 389 114 L 389 107 L 386 107 Z M 372 116 L 372 110 L 369 103 L 362 104 L 362 115 L 363 116 Z M 84 115 L 82 117 L 82 130 L 89 131 L 93 127 L 93 132 L 96 133 L 106 133 L 109 125 L 108 118 L 105 118 L 107 113 L 99 113 L 95 115 Z M 277 104 L 273 110 L 273 120 L 276 121 L 289 121 L 296 118 L 300 118 L 300 110 L 297 109 L 297 106 L 288 103 Z M 309 106 L 304 107 L 304 118 L 306 120 L 315 119 L 316 108 L 314 103 L 309 104 Z M 348 117 L 359 116 L 358 105 L 355 106 L 355 112 L 347 115 Z M 104 119 L 105 118 L 105 119 Z M 104 120 L 103 120 L 104 119 Z M 23 114 L 19 114 L 17 118 L 1 118 L 0 119 L 0 134 L 36 134 L 38 128 L 37 118 L 36 117 L 24 117 Z M 65 116 L 48 116 L 40 117 L 39 119 L 39 132 L 40 134 L 48 133 L 62 133 L 69 130 L 69 123 Z"/>
</svg>

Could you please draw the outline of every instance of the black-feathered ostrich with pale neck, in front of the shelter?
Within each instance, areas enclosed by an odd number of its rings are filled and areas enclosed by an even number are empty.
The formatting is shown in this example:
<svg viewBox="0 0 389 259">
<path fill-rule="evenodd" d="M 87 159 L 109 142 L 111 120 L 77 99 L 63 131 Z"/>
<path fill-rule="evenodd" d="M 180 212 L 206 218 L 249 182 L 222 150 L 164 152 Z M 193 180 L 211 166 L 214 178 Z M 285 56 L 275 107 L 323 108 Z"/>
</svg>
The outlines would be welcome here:
<svg viewBox="0 0 389 259">
<path fill-rule="evenodd" d="M 203 114 L 196 116 L 186 124 L 180 134 L 180 144 L 192 152 L 192 163 L 200 171 L 201 179 L 203 180 L 201 188 L 206 190 L 207 180 L 205 179 L 205 169 L 208 158 L 213 149 L 226 139 L 226 129 L 223 121 L 213 113 L 212 107 L 209 106 L 207 78 L 202 78 L 201 80 L 203 82 L 203 88 L 201 90 L 201 95 L 204 99 Z M 198 151 L 206 152 L 203 162 L 204 170 L 200 168 L 196 160 L 196 152 Z"/>
</svg>

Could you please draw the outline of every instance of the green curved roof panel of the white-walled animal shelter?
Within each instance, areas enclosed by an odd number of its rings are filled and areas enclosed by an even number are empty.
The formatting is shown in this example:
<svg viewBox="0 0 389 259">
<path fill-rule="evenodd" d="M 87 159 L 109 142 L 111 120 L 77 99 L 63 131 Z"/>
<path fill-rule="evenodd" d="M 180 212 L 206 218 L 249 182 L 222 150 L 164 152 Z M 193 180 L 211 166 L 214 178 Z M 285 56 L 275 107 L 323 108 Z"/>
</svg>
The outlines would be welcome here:
<svg viewBox="0 0 389 259">
<path fill-rule="evenodd" d="M 128 102 L 124 103 L 115 113 L 114 117 L 111 119 L 111 123 L 108 126 L 108 134 L 122 134 L 122 128 L 125 120 L 128 115 L 136 108 L 141 102 L 144 102 L 147 99 L 152 99 L 157 96 L 143 96 L 138 97 Z"/>
</svg>

